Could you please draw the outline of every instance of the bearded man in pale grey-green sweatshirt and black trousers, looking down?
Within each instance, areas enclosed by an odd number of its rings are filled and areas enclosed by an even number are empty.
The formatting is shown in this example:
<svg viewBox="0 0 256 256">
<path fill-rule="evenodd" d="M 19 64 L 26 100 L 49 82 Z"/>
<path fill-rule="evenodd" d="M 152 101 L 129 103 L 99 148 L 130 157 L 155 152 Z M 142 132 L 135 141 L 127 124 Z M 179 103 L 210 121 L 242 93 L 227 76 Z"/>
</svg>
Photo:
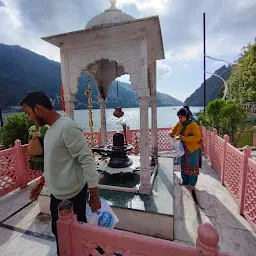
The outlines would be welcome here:
<svg viewBox="0 0 256 256">
<path fill-rule="evenodd" d="M 56 222 L 58 205 L 68 199 L 72 202 L 78 221 L 86 222 L 87 189 L 93 211 L 100 209 L 98 173 L 93 155 L 88 148 L 82 129 L 73 120 L 61 116 L 44 92 L 31 92 L 21 106 L 36 125 L 49 125 L 44 137 L 44 173 L 32 189 L 30 199 L 36 200 L 46 184 L 51 194 L 52 232 L 58 236 Z"/>
</svg>

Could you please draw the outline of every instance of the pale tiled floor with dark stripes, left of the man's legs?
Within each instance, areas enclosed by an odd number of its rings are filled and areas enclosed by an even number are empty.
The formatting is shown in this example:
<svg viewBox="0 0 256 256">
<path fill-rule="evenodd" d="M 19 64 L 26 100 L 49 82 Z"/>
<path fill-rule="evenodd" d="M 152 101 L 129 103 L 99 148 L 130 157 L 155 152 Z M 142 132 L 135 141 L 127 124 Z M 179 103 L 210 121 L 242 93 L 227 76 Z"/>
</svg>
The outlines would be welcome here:
<svg viewBox="0 0 256 256">
<path fill-rule="evenodd" d="M 0 198 L 0 255 L 54 256 L 51 219 L 39 214 L 37 202 L 28 199 L 33 184 Z"/>
</svg>

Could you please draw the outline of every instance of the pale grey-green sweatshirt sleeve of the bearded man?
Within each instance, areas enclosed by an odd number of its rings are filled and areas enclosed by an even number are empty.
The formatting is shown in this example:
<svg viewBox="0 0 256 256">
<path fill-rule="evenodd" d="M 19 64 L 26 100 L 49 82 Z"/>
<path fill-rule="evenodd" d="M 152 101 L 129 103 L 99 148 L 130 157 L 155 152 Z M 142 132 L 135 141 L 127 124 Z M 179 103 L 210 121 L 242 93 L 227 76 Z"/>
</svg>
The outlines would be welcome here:
<svg viewBox="0 0 256 256">
<path fill-rule="evenodd" d="M 76 123 L 70 123 L 62 127 L 62 135 L 70 155 L 81 164 L 88 187 L 97 187 L 99 174 L 82 129 Z"/>
</svg>

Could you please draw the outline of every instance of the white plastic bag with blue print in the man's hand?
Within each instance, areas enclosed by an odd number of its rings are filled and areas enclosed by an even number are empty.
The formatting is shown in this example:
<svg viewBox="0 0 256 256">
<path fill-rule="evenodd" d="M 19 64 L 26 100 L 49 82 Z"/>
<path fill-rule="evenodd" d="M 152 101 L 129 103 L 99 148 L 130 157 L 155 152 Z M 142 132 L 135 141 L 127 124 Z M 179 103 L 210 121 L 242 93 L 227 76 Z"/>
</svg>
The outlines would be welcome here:
<svg viewBox="0 0 256 256">
<path fill-rule="evenodd" d="M 94 226 L 114 228 L 119 222 L 118 218 L 104 198 L 100 198 L 100 201 L 101 208 L 96 212 L 92 212 L 90 206 L 86 207 L 87 223 Z"/>
</svg>

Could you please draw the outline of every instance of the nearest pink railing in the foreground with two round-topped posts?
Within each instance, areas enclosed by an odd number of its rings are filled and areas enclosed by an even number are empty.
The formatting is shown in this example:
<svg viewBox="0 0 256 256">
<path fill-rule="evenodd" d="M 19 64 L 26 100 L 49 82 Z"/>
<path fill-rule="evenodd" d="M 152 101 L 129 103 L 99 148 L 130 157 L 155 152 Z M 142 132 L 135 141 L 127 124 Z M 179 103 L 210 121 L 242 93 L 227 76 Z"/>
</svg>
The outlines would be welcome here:
<svg viewBox="0 0 256 256">
<path fill-rule="evenodd" d="M 57 222 L 60 256 L 227 256 L 218 252 L 219 235 L 209 223 L 198 228 L 196 246 L 187 246 L 126 231 L 78 223 L 69 201 L 59 206 Z M 101 253 L 99 253 L 99 248 Z"/>
</svg>

